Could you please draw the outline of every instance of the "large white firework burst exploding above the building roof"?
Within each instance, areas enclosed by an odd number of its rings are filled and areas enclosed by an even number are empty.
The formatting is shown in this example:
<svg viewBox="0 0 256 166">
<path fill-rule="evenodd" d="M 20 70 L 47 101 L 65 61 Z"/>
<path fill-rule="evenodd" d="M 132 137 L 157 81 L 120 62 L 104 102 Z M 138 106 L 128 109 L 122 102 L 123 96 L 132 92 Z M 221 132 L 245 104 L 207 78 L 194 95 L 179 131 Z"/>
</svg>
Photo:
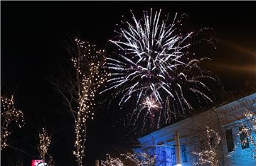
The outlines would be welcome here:
<svg viewBox="0 0 256 166">
<path fill-rule="evenodd" d="M 161 117 L 169 123 L 171 116 L 192 109 L 186 94 L 212 101 L 203 80 L 217 80 L 199 66 L 208 58 L 197 59 L 188 51 L 193 32 L 181 33 L 177 13 L 169 21 L 168 16 L 161 17 L 161 10 L 153 13 L 151 9 L 144 11 L 141 20 L 132 13 L 132 19 L 133 23 L 125 22 L 117 31 L 117 40 L 110 40 L 118 50 L 107 58 L 111 77 L 105 91 L 122 94 L 119 106 L 136 99 L 135 119 L 143 114 L 146 121 L 146 116 L 153 119 L 158 114 L 158 123 Z"/>
</svg>

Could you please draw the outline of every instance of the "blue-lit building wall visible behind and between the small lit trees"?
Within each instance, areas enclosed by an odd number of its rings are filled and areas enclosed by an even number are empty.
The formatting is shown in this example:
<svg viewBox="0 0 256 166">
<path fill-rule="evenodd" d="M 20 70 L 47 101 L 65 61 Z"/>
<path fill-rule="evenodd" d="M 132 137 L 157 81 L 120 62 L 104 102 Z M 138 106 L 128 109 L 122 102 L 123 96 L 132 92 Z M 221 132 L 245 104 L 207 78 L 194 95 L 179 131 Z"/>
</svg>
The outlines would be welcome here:
<svg viewBox="0 0 256 166">
<path fill-rule="evenodd" d="M 206 126 L 209 126 L 221 136 L 217 155 L 220 165 L 256 165 L 256 159 L 252 159 L 253 145 L 250 145 L 250 148 L 242 149 L 240 144 L 240 121 L 243 121 L 245 124 L 248 123 L 245 121 L 244 116 L 246 110 L 256 113 L 256 93 L 209 109 L 202 114 L 186 118 L 183 121 L 138 138 L 142 146 L 141 148 L 134 149 L 134 151 L 156 155 L 156 165 L 174 165 L 173 161 L 176 160 L 176 155 L 172 154 L 176 148 L 174 133 L 178 131 L 181 147 L 186 147 L 186 153 L 182 153 L 181 150 L 181 161 L 186 159 L 186 162 L 182 162 L 182 165 L 193 165 L 193 162 L 198 160 L 198 156 L 192 152 L 200 150 L 201 139 L 205 136 L 203 133 L 206 133 Z M 233 131 L 233 140 L 236 147 L 233 153 L 228 153 L 225 137 L 225 131 L 228 129 Z M 253 136 L 256 137 L 255 132 Z"/>
</svg>

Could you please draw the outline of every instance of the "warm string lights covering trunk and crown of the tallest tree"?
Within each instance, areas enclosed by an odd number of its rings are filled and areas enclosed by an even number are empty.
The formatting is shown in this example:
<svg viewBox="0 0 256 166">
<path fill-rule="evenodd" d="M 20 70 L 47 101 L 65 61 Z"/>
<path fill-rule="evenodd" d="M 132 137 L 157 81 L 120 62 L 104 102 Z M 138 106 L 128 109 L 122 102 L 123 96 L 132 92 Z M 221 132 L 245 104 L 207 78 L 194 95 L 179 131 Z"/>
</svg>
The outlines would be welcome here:
<svg viewBox="0 0 256 166">
<path fill-rule="evenodd" d="M 106 80 L 104 50 L 96 50 L 95 45 L 75 39 L 78 48 L 77 57 L 72 58 L 78 81 L 78 116 L 75 120 L 75 150 L 74 155 L 82 165 L 86 140 L 86 121 L 93 119 L 95 111 L 95 93 Z"/>
</svg>

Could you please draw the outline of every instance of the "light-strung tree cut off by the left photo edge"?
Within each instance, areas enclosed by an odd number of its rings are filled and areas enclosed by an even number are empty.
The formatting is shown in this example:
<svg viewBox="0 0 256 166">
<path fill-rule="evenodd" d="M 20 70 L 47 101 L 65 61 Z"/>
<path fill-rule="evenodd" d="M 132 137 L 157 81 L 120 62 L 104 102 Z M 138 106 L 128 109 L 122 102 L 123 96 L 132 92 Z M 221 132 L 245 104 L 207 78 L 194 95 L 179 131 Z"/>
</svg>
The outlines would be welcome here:
<svg viewBox="0 0 256 166">
<path fill-rule="evenodd" d="M 9 146 L 11 128 L 16 124 L 18 128 L 24 125 L 24 115 L 14 106 L 14 96 L 6 98 L 1 96 L 1 150 Z"/>
</svg>

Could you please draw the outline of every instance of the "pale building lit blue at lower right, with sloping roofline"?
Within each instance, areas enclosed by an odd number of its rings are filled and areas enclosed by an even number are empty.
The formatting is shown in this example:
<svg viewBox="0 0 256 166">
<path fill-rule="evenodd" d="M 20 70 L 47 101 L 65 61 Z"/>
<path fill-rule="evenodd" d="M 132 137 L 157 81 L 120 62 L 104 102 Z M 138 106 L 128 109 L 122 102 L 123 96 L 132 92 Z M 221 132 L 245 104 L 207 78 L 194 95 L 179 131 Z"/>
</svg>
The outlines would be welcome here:
<svg viewBox="0 0 256 166">
<path fill-rule="evenodd" d="M 199 157 L 198 154 L 202 153 L 214 153 L 210 157 L 215 158 L 215 165 L 256 165 L 256 147 L 250 141 L 256 142 L 256 124 L 252 124 L 245 116 L 248 112 L 255 118 L 256 93 L 138 138 L 139 148 L 134 148 L 134 151 L 156 156 L 155 165 L 176 165 L 175 133 L 178 131 L 181 165 L 193 165 L 196 162 L 210 165 L 210 162 L 200 160 L 207 160 L 207 157 Z M 244 127 L 252 128 L 249 140 L 249 135 L 242 130 Z M 241 140 L 247 141 L 241 143 Z"/>
</svg>

